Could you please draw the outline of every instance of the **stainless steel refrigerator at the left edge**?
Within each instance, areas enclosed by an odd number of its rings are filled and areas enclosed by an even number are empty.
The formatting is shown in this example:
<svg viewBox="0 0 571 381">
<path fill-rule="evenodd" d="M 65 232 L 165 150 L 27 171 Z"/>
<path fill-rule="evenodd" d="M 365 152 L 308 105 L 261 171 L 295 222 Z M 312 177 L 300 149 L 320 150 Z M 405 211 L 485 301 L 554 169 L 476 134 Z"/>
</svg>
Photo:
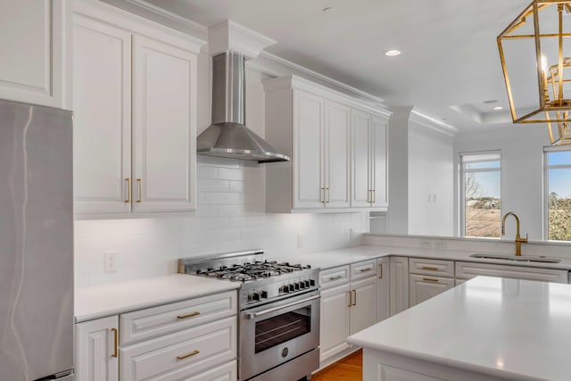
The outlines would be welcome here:
<svg viewBox="0 0 571 381">
<path fill-rule="evenodd" d="M 0 100 L 0 381 L 73 380 L 71 128 Z"/>
</svg>

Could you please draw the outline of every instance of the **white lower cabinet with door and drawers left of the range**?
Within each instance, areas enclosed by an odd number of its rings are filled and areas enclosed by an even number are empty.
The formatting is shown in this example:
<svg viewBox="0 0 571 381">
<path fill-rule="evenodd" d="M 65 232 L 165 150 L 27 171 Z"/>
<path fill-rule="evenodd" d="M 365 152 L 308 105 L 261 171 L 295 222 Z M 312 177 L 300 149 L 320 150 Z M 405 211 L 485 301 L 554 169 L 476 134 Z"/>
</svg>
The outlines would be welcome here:
<svg viewBox="0 0 571 381">
<path fill-rule="evenodd" d="M 76 325 L 78 381 L 237 379 L 236 291 Z"/>
</svg>

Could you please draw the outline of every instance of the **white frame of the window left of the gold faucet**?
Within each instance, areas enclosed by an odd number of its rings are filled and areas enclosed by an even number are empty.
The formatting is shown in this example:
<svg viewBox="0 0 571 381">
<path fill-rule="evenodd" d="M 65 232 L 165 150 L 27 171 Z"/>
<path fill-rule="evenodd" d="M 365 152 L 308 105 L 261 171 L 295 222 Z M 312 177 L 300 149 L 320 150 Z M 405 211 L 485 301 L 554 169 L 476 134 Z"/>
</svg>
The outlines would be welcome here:
<svg viewBox="0 0 571 381">
<path fill-rule="evenodd" d="M 463 238 L 484 238 L 484 239 L 501 239 L 501 236 L 466 236 L 466 173 L 464 165 L 464 157 L 465 156 L 490 156 L 488 160 L 481 160 L 481 161 L 474 161 L 474 162 L 500 162 L 500 215 L 503 215 L 503 203 L 501 202 L 503 199 L 503 157 L 501 154 L 501 150 L 490 150 L 490 151 L 467 151 L 467 152 L 460 152 L 459 153 L 459 234 Z M 494 156 L 492 158 L 492 156 Z M 468 172 L 495 172 L 498 169 L 480 169 L 480 170 L 468 170 Z"/>
</svg>

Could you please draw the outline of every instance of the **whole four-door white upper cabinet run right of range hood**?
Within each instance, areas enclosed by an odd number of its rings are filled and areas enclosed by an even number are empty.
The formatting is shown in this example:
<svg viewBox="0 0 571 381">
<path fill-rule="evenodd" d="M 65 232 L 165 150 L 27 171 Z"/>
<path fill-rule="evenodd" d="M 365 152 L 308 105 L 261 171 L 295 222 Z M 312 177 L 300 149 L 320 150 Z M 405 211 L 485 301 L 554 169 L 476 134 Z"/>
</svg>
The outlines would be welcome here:
<svg viewBox="0 0 571 381">
<path fill-rule="evenodd" d="M 346 95 L 294 76 L 266 80 L 264 88 L 266 139 L 291 157 L 291 162 L 266 166 L 266 211 L 386 207 L 386 137 L 382 135 L 382 147 L 377 147 L 373 113 L 361 112 L 368 121 L 364 128 L 352 128 L 352 115 L 360 112 L 356 107 L 361 105 Z M 385 124 L 383 128 L 386 131 Z M 362 133 L 362 142 L 352 145 L 352 131 Z M 377 173 L 384 178 L 377 181 Z M 378 188 L 377 200 L 369 191 L 373 188 Z M 362 194 L 362 203 L 352 203 L 352 191 Z"/>
</svg>

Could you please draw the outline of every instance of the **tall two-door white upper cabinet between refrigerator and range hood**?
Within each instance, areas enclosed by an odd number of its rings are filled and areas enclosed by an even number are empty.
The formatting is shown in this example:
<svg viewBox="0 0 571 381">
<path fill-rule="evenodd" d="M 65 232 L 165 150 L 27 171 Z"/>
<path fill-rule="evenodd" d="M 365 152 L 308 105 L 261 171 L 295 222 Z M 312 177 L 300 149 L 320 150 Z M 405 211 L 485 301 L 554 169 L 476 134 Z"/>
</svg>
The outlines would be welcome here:
<svg viewBox="0 0 571 381">
<path fill-rule="evenodd" d="M 74 4 L 75 212 L 194 210 L 200 44 L 107 4 Z"/>
</svg>

